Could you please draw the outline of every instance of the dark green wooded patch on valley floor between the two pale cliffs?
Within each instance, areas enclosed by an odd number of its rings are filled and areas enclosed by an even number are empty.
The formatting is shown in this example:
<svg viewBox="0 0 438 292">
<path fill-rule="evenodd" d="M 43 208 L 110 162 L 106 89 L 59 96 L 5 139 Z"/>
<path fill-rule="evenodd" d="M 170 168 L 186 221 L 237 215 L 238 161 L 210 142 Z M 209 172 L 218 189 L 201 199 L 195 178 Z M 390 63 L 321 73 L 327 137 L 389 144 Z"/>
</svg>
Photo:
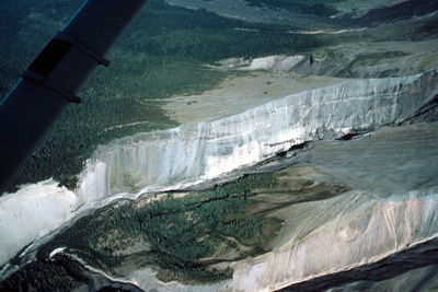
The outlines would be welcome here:
<svg viewBox="0 0 438 292">
<path fill-rule="evenodd" d="M 251 197 L 254 189 L 274 184 L 273 175 L 257 174 L 184 197 L 168 194 L 151 202 L 120 201 L 57 234 L 37 258 L 67 247 L 67 253 L 113 273 L 120 267 L 151 266 L 163 281 L 226 279 L 232 270 L 216 264 L 269 250 L 281 221 L 252 214 L 256 201 Z"/>
</svg>

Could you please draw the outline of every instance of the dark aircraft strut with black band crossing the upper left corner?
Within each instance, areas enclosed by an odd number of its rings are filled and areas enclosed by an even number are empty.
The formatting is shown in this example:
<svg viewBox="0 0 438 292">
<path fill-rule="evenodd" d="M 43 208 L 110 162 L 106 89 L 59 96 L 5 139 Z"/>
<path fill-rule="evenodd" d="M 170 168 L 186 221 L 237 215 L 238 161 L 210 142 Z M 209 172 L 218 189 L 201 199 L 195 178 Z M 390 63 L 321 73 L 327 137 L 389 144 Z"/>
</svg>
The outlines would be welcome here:
<svg viewBox="0 0 438 292">
<path fill-rule="evenodd" d="M 0 195 L 146 0 L 89 0 L 0 104 Z"/>
</svg>

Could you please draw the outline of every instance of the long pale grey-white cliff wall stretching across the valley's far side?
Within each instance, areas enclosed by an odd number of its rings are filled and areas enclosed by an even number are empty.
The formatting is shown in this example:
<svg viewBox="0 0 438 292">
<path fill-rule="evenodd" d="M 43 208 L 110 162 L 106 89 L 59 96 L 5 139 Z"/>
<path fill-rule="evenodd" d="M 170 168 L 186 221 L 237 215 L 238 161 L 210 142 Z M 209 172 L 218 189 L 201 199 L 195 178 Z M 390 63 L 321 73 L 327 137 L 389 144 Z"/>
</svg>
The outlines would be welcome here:
<svg viewBox="0 0 438 292">
<path fill-rule="evenodd" d="M 0 198 L 0 264 L 42 232 L 67 222 L 69 214 L 80 208 L 217 178 L 306 141 L 402 122 L 437 95 L 437 79 L 438 73 L 429 71 L 402 78 L 345 81 L 211 122 L 139 133 L 100 147 L 87 162 L 74 192 L 46 182 L 23 188 L 21 196 Z M 53 198 L 58 195 L 62 198 L 59 206 L 65 208 L 54 207 Z M 21 199 L 23 196 L 25 200 Z M 42 214 L 34 219 L 34 227 L 27 224 L 32 210 L 22 206 L 34 206 L 31 209 Z"/>
</svg>

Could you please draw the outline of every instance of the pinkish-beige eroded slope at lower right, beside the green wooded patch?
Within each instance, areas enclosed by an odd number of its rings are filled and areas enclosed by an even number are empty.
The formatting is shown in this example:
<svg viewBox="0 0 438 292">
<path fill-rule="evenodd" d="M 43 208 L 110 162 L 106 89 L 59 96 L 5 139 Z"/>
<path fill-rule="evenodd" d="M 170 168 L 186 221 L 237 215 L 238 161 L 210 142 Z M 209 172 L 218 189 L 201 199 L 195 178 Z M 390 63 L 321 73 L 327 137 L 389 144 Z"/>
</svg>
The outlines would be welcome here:
<svg viewBox="0 0 438 292">
<path fill-rule="evenodd" d="M 239 264 L 233 288 L 278 290 L 374 262 L 435 238 L 437 196 L 438 188 L 394 195 L 385 200 L 350 191 L 297 206 L 290 210 L 297 222 L 292 240 L 270 254 Z"/>
</svg>

